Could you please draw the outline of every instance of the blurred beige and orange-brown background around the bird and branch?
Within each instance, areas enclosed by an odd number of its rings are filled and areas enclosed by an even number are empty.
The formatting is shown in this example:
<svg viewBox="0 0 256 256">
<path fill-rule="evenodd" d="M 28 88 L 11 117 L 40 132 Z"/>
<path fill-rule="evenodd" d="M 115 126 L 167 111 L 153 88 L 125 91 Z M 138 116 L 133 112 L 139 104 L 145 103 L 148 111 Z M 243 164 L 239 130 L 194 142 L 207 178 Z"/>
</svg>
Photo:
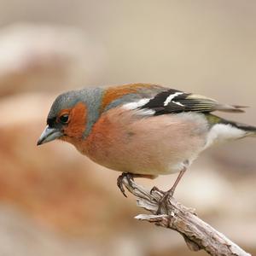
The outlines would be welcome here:
<svg viewBox="0 0 256 256">
<path fill-rule="evenodd" d="M 118 172 L 73 146 L 36 147 L 55 96 L 149 82 L 250 106 L 222 114 L 256 125 L 253 0 L 0 0 L 0 255 L 206 255 L 116 187 Z M 176 197 L 256 253 L 256 140 L 208 150 Z M 146 187 L 167 189 L 175 175 Z"/>
</svg>

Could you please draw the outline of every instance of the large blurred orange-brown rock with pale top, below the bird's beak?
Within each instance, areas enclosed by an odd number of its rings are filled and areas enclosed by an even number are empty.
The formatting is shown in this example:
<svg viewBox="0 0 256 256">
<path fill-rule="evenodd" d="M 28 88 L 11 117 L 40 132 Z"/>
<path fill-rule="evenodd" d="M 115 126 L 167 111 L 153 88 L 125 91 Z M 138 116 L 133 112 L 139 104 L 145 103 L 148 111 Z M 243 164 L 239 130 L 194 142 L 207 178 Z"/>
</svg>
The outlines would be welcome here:
<svg viewBox="0 0 256 256">
<path fill-rule="evenodd" d="M 125 200 L 118 172 L 103 170 L 67 143 L 36 146 L 51 101 L 31 94 L 1 102 L 0 201 L 67 234 L 102 234 L 132 221 L 134 207 L 117 203 Z"/>
</svg>

